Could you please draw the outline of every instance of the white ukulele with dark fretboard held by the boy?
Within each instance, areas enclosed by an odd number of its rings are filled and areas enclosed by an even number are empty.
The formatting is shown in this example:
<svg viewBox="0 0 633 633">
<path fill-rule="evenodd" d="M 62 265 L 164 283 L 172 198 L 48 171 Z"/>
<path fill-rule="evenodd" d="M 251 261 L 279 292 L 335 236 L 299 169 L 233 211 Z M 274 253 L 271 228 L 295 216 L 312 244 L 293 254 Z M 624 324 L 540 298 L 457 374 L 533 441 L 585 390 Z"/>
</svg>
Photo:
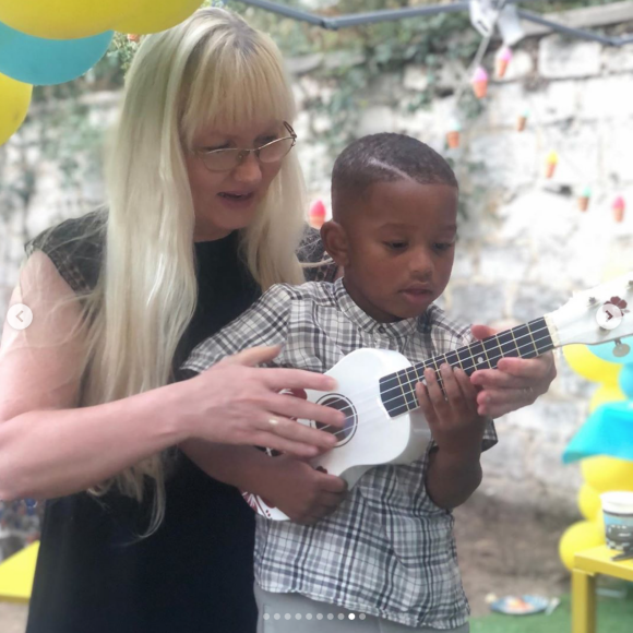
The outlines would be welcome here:
<svg viewBox="0 0 633 633">
<path fill-rule="evenodd" d="M 447 362 L 470 375 L 477 369 L 497 368 L 503 357 L 534 358 L 573 343 L 597 345 L 614 341 L 616 356 L 628 355 L 629 346 L 619 339 L 633 333 L 633 315 L 626 307 L 632 300 L 633 273 L 578 292 L 562 308 L 540 319 L 417 365 L 397 351 L 353 351 L 326 372 L 336 379 L 336 392 L 307 392 L 310 402 L 347 415 L 343 429 L 331 428 L 339 442 L 310 463 L 342 477 L 351 488 L 372 466 L 410 464 L 421 457 L 430 430 L 418 408 L 415 387 L 423 382 L 426 368 L 437 372 Z M 311 420 L 299 422 L 322 428 Z M 262 498 L 248 492 L 243 497 L 262 516 L 288 521 Z"/>
</svg>

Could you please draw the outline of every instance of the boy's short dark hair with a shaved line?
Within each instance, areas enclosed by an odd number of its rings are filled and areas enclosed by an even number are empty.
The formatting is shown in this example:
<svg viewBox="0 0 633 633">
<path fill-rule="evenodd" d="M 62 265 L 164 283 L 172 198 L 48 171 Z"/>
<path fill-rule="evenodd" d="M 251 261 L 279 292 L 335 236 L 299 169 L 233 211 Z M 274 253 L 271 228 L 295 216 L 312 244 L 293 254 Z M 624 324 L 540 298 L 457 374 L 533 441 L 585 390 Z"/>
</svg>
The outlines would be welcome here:
<svg viewBox="0 0 633 633">
<path fill-rule="evenodd" d="M 332 170 L 333 211 L 338 198 L 359 198 L 375 182 L 403 178 L 458 188 L 451 166 L 427 144 L 406 134 L 371 134 L 350 143 L 336 158 Z"/>
</svg>

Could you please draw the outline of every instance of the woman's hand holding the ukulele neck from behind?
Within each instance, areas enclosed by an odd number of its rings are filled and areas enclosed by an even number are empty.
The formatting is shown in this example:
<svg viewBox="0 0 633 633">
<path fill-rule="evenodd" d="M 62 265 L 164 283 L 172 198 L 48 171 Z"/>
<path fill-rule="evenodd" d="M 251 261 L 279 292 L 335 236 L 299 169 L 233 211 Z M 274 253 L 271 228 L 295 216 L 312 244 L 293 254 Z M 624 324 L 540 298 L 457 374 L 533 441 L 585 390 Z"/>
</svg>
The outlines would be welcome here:
<svg viewBox="0 0 633 633">
<path fill-rule="evenodd" d="M 487 325 L 473 325 L 476 338 L 492 336 L 500 330 Z M 470 382 L 480 390 L 477 394 L 477 413 L 499 418 L 510 411 L 533 404 L 547 393 L 557 375 L 551 351 L 537 358 L 502 358 L 497 369 L 480 369 L 470 375 Z"/>
</svg>

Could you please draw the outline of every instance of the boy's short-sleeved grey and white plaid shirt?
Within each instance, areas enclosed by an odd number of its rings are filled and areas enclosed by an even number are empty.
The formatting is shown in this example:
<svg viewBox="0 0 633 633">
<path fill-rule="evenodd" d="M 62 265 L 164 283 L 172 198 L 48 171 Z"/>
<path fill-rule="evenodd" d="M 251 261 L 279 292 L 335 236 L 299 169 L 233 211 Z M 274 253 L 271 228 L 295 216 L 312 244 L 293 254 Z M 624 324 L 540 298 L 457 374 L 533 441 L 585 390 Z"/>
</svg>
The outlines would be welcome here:
<svg viewBox="0 0 633 633">
<path fill-rule="evenodd" d="M 437 306 L 379 323 L 343 280 L 272 287 L 247 312 L 201 343 L 183 369 L 204 371 L 224 356 L 283 343 L 275 367 L 325 372 L 361 347 L 395 349 L 411 362 L 462 347 L 468 326 Z M 483 449 L 497 442 L 489 423 Z M 303 596 L 409 626 L 454 629 L 469 612 L 457 568 L 453 515 L 425 487 L 427 454 L 407 466 L 378 466 L 316 525 L 258 516 L 255 578 L 265 590 Z"/>
</svg>

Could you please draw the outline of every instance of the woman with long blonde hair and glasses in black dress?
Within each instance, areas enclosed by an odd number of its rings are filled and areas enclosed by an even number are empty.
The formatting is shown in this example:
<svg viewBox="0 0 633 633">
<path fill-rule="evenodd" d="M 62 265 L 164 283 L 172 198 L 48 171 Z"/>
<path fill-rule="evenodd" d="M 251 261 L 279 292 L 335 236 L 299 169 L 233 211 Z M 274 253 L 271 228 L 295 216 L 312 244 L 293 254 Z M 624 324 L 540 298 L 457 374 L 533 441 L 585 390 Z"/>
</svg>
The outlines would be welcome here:
<svg viewBox="0 0 633 633">
<path fill-rule="evenodd" d="M 296 252 L 322 256 L 304 234 L 294 116 L 275 45 L 237 15 L 204 10 L 148 36 L 109 147 L 107 211 L 28 246 L 12 303 L 33 324 L 7 326 L 1 347 L 0 499 L 49 500 L 29 633 L 254 631 L 254 515 L 167 449 L 309 456 L 335 441 L 290 418 L 342 414 L 278 393 L 330 379 L 254 369 L 278 349 L 174 373 L 263 289 L 300 283 Z M 315 514 L 338 503 L 342 480 L 303 479 L 307 499 L 326 495 Z"/>
</svg>

